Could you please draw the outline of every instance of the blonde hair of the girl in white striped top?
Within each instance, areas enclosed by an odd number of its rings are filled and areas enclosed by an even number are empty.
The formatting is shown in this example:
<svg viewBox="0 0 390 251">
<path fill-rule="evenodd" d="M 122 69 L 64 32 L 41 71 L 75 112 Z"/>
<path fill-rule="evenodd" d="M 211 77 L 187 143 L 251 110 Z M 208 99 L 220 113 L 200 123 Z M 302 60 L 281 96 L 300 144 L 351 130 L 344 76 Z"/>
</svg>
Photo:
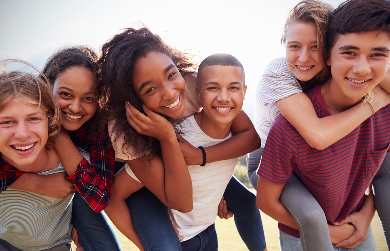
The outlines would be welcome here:
<svg viewBox="0 0 390 251">
<path fill-rule="evenodd" d="M 289 25 L 298 22 L 313 22 L 317 27 L 317 51 L 324 68 L 311 80 L 307 81 L 305 86 L 302 86 L 304 90 L 309 90 L 314 87 L 314 85 L 324 83 L 330 76 L 330 67 L 326 65 L 326 60 L 328 59 L 326 31 L 328 30 L 328 22 L 333 10 L 334 8 L 332 5 L 328 3 L 317 0 L 303 0 L 296 4 L 287 16 L 282 39 L 280 40 L 283 44 L 285 42 L 285 34 L 289 28 Z"/>
</svg>

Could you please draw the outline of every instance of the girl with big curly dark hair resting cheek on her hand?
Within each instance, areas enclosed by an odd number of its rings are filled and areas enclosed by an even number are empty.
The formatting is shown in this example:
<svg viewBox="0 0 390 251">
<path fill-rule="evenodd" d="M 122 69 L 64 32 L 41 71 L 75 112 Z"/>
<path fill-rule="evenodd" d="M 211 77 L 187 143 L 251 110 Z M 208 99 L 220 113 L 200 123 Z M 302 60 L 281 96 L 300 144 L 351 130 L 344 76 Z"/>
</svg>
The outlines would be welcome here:
<svg viewBox="0 0 390 251">
<path fill-rule="evenodd" d="M 125 29 L 104 44 L 102 51 L 99 64 L 101 81 L 107 88 L 104 93 L 107 95 L 109 131 L 116 157 L 127 162 L 115 176 L 111 202 L 105 211 L 140 249 L 182 250 L 167 207 L 181 212 L 192 210 L 191 177 L 186 164 L 200 165 L 206 161 L 201 149 L 177 136 L 180 148 L 175 135 L 175 129 L 180 131 L 176 125 L 185 110 L 184 103 L 188 102 L 185 85 L 193 78 L 194 65 L 188 55 L 167 46 L 147 28 Z M 191 91 L 195 92 L 195 88 Z M 246 114 L 241 111 L 235 120 L 232 132 L 241 137 L 236 135 L 205 147 L 208 163 L 239 157 L 259 146 L 260 139 Z M 251 142 L 250 146 L 248 142 Z M 235 178 L 232 180 L 230 182 L 239 183 Z M 230 183 L 226 191 L 229 186 Z M 140 191 L 126 200 L 138 189 Z M 236 192 L 241 191 L 241 198 L 251 202 L 248 214 L 255 216 L 236 218 L 253 223 L 246 225 L 252 225 L 249 231 L 240 232 L 241 236 L 250 236 L 247 238 L 250 240 L 245 241 L 248 245 L 248 242 L 261 241 L 256 231 L 261 228 L 262 232 L 262 225 L 254 194 L 245 189 Z M 221 203 L 223 205 L 223 200 Z M 248 233 L 251 231 L 253 235 Z"/>
</svg>

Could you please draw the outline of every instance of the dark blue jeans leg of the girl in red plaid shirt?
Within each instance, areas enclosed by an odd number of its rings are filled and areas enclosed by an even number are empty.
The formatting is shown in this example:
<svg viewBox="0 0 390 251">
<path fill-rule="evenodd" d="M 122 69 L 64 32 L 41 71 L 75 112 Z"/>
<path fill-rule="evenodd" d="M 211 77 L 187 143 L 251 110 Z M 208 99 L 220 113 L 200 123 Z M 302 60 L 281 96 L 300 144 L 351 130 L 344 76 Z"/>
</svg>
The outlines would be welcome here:
<svg viewBox="0 0 390 251">
<path fill-rule="evenodd" d="M 105 212 L 94 212 L 78 193 L 73 198 L 72 223 L 84 251 L 122 251 L 117 234 Z"/>
</svg>

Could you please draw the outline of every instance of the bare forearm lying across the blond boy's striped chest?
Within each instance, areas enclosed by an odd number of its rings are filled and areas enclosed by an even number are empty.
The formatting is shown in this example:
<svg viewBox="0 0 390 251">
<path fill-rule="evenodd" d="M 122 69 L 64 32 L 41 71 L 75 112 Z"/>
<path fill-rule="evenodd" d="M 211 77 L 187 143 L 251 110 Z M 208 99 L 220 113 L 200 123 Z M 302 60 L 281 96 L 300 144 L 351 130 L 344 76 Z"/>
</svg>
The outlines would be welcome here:
<svg viewBox="0 0 390 251">
<path fill-rule="evenodd" d="M 76 192 L 71 182 L 65 178 L 65 173 L 38 175 L 26 172 L 9 186 L 14 189 L 39 193 L 49 197 L 62 199 Z"/>
</svg>

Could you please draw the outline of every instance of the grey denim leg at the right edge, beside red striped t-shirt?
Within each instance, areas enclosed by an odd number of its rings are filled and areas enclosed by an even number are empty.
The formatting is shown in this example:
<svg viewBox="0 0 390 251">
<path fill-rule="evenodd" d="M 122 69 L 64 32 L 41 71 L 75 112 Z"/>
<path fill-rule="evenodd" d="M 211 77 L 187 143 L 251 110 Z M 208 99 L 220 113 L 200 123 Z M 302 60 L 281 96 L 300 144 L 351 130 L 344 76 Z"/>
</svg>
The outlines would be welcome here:
<svg viewBox="0 0 390 251">
<path fill-rule="evenodd" d="M 385 234 L 387 248 L 390 249 L 390 154 L 386 154 L 385 159 L 372 180 L 374 188 L 375 207 L 382 223 Z"/>
</svg>

